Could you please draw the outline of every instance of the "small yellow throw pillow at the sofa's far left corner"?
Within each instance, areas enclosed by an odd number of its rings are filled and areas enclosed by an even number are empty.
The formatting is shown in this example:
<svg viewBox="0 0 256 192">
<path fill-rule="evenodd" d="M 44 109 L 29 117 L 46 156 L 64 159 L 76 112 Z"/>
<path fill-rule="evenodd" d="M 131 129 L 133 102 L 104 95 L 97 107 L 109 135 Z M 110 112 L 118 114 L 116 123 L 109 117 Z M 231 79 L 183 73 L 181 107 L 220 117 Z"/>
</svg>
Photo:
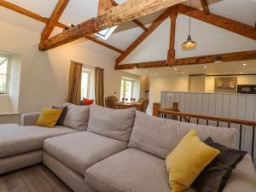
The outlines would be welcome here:
<svg viewBox="0 0 256 192">
<path fill-rule="evenodd" d="M 61 117 L 62 111 L 62 108 L 44 108 L 36 122 L 36 125 L 54 127 L 55 124 L 58 122 L 58 119 Z"/>
</svg>

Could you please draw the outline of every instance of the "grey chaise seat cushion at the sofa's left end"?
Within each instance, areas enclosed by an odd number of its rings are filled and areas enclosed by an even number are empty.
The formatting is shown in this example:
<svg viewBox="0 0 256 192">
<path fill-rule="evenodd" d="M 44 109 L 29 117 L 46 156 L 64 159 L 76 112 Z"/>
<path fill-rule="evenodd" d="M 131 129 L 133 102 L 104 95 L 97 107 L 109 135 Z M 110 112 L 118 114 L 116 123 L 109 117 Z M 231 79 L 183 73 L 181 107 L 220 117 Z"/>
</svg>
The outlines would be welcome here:
<svg viewBox="0 0 256 192">
<path fill-rule="evenodd" d="M 45 128 L 37 125 L 0 125 L 0 158 L 43 148 L 44 139 L 77 132 L 64 126 Z"/>
</svg>

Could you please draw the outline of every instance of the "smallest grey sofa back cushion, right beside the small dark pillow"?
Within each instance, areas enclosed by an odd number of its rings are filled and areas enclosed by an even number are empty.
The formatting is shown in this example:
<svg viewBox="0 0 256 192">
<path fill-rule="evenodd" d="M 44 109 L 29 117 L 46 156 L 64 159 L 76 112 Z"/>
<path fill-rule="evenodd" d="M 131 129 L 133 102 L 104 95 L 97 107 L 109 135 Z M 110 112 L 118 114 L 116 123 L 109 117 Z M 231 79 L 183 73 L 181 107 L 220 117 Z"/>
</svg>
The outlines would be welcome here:
<svg viewBox="0 0 256 192">
<path fill-rule="evenodd" d="M 67 113 L 64 119 L 64 126 L 73 128 L 78 131 L 86 131 L 89 120 L 89 107 L 64 103 L 67 106 Z"/>
</svg>

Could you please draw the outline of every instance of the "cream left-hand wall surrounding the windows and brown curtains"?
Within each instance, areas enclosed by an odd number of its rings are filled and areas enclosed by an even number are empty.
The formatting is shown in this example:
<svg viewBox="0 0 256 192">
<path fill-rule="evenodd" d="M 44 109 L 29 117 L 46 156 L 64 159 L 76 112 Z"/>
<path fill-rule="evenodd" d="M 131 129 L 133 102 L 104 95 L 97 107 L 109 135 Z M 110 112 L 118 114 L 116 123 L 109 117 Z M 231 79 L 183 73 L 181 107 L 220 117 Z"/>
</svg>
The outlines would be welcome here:
<svg viewBox="0 0 256 192">
<path fill-rule="evenodd" d="M 105 69 L 105 96 L 119 96 L 122 76 L 136 75 L 113 70 L 114 58 L 108 50 L 92 42 L 77 41 L 59 48 L 38 50 L 40 34 L 0 21 L 0 50 L 21 56 L 20 113 L 40 111 L 45 106 L 61 105 L 67 98 L 70 61 Z M 107 52 L 107 54 L 106 54 Z M 17 77 L 18 78 L 18 77 Z M 3 98 L 0 98 L 0 101 Z M 1 105 L 2 108 L 2 105 Z M 17 121 L 19 117 L 15 118 Z M 10 115 L 1 116 L 0 123 L 13 122 Z"/>
</svg>

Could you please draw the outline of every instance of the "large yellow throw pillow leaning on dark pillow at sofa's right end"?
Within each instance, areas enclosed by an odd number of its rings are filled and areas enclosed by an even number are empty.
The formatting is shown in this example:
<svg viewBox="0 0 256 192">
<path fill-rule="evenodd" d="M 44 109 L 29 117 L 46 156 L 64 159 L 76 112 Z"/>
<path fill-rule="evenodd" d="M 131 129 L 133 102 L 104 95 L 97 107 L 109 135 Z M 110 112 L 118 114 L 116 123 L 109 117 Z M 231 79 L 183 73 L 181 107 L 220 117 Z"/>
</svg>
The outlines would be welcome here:
<svg viewBox="0 0 256 192">
<path fill-rule="evenodd" d="M 177 147 L 166 157 L 169 183 L 172 192 L 189 189 L 191 183 L 220 152 L 201 142 L 195 130 L 183 137 Z"/>
</svg>

